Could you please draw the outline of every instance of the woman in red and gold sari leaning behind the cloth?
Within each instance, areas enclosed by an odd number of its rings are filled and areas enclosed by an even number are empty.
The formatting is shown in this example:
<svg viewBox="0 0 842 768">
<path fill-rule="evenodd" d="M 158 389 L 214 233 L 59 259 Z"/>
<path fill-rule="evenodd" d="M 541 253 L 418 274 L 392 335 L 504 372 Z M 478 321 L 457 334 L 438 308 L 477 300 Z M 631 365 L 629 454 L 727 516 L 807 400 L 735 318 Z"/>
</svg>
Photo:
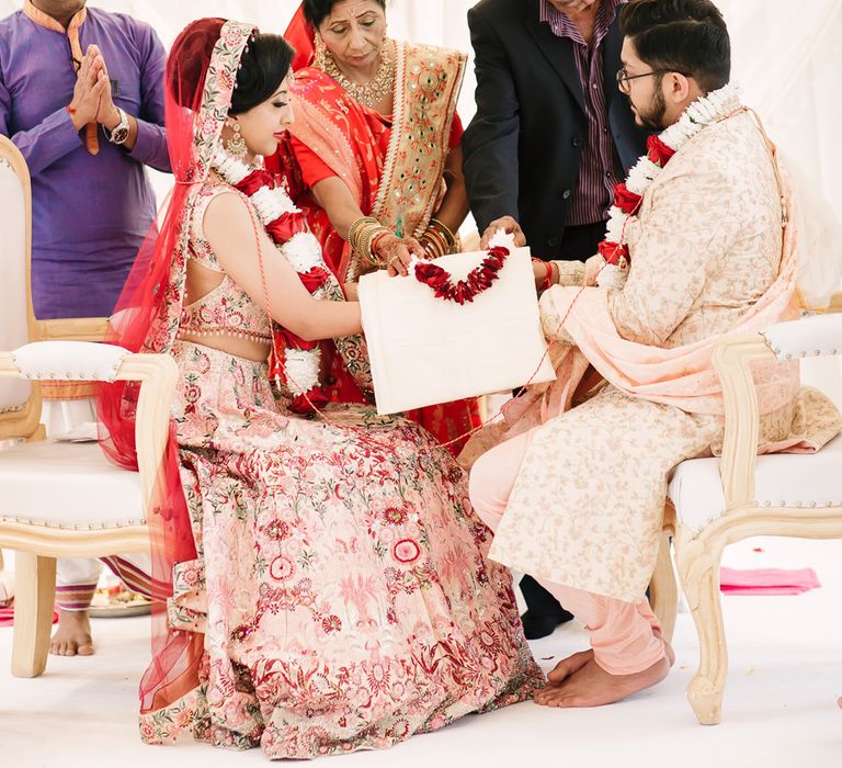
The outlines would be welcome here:
<svg viewBox="0 0 842 768">
<path fill-rule="evenodd" d="M 306 0 L 285 36 L 297 50 L 296 122 L 280 165 L 294 155 L 301 178 L 292 193 L 342 285 L 353 292 L 373 269 L 405 274 L 413 255 L 458 252 L 465 55 L 388 38 L 385 0 Z M 361 364 L 334 361 L 331 399 L 371 399 L 346 374 Z M 479 425 L 475 399 L 408 416 L 445 443 Z"/>
</svg>

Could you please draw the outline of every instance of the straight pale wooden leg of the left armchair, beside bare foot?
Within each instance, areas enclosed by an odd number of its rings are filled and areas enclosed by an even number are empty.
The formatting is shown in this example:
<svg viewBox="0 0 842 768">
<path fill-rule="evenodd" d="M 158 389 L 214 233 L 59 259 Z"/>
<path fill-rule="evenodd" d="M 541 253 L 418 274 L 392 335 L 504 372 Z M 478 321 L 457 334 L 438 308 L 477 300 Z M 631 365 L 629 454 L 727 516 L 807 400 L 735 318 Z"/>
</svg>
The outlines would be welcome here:
<svg viewBox="0 0 842 768">
<path fill-rule="evenodd" d="M 14 571 L 12 675 L 37 677 L 47 666 L 56 599 L 56 558 L 15 552 Z"/>
</svg>

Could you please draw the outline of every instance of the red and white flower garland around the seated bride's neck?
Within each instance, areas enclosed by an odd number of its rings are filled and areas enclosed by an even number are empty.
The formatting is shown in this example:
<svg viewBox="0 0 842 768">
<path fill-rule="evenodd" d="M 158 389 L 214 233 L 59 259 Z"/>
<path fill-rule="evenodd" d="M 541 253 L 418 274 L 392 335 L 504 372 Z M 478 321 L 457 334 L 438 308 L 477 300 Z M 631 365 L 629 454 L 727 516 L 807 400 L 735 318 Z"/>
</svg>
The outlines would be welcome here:
<svg viewBox="0 0 842 768">
<path fill-rule="evenodd" d="M 252 168 L 221 149 L 214 156 L 213 167 L 231 187 L 242 192 L 254 205 L 266 234 L 298 273 L 314 298 L 323 298 L 330 278 L 319 241 L 307 228 L 299 208 L 277 179 L 263 168 Z M 312 410 L 312 405 L 328 402 L 319 386 L 321 348 L 318 341 L 306 341 L 286 328 L 278 328 L 273 345 L 270 375 L 280 380 L 292 395 L 291 408 L 297 413 Z"/>
</svg>

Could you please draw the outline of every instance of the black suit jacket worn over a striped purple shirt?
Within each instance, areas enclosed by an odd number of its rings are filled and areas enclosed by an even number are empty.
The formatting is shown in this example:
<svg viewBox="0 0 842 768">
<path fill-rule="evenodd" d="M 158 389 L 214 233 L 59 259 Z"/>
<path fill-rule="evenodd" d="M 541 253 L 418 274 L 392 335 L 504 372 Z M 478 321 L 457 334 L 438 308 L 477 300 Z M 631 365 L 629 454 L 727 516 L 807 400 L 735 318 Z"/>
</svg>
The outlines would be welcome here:
<svg viewBox="0 0 842 768">
<path fill-rule="evenodd" d="M 480 234 L 514 216 L 533 255 L 559 258 L 587 140 L 582 87 L 571 41 L 538 21 L 539 0 L 481 0 L 468 11 L 476 54 L 477 113 L 463 137 L 464 171 Z M 608 125 L 628 170 L 646 151 L 619 93 L 619 16 L 603 41 Z"/>
</svg>

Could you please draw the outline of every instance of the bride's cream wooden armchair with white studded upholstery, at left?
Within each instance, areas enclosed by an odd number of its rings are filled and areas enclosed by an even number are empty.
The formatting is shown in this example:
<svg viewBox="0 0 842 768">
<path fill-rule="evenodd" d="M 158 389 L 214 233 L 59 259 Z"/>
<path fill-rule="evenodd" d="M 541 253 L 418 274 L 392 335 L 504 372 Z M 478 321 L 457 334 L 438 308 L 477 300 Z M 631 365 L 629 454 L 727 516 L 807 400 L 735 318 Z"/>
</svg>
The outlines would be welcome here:
<svg viewBox="0 0 842 768">
<path fill-rule="evenodd" d="M 0 136 L 0 350 L 14 350 L 0 351 L 0 547 L 15 551 L 18 677 L 46 667 L 57 557 L 148 551 L 146 516 L 178 374 L 168 355 L 43 340 L 55 326 L 37 323 L 32 312 L 31 215 L 26 165 Z M 95 321 L 75 325 L 82 337 L 96 330 Z M 44 439 L 39 382 L 56 380 L 140 382 L 138 472 L 109 462 L 96 443 Z"/>
</svg>

